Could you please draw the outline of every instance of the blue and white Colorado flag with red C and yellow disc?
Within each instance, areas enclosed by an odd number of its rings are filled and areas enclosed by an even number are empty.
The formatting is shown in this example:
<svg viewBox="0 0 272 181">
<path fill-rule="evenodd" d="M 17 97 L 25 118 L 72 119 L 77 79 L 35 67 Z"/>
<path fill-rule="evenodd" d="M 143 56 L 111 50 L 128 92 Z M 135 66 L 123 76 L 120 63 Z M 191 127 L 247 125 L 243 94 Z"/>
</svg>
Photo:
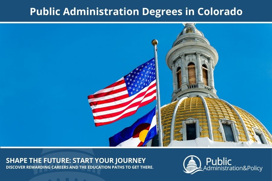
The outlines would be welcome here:
<svg viewBox="0 0 272 181">
<path fill-rule="evenodd" d="M 144 146 L 157 135 L 156 107 L 133 125 L 109 138 L 110 146 Z"/>
</svg>

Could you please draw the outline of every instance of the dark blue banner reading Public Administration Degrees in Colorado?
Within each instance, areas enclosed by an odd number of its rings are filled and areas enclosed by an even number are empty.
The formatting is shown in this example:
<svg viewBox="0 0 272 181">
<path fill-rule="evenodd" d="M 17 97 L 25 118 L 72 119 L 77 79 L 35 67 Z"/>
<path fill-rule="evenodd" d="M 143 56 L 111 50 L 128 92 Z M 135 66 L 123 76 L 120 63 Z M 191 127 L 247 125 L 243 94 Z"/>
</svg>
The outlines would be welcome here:
<svg viewBox="0 0 272 181">
<path fill-rule="evenodd" d="M 0 22 L 272 22 L 271 1 L 2 1 Z"/>
</svg>

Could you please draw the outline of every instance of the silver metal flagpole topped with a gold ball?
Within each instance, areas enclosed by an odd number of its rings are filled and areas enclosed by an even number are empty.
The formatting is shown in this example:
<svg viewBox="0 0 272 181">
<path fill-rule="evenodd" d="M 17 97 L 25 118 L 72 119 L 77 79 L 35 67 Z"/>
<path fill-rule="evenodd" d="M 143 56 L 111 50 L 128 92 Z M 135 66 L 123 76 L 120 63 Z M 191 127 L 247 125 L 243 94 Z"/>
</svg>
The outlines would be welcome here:
<svg viewBox="0 0 272 181">
<path fill-rule="evenodd" d="M 158 57 L 157 57 L 157 44 L 158 40 L 152 40 L 154 46 L 154 58 L 156 69 L 156 89 L 157 89 L 157 110 L 158 110 L 158 123 L 159 123 L 159 146 L 162 147 L 162 130 L 161 130 L 161 117 L 160 117 L 160 85 L 159 85 L 159 69 L 158 69 Z"/>
</svg>

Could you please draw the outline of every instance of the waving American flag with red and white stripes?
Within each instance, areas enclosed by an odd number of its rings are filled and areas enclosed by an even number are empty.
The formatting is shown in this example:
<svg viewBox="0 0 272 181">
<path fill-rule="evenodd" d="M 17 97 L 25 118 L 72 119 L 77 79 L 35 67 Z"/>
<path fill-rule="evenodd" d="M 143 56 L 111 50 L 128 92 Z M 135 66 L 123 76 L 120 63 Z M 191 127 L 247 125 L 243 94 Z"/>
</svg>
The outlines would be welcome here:
<svg viewBox="0 0 272 181">
<path fill-rule="evenodd" d="M 96 126 L 110 124 L 136 113 L 156 99 L 154 58 L 96 93 L 88 100 Z"/>
</svg>

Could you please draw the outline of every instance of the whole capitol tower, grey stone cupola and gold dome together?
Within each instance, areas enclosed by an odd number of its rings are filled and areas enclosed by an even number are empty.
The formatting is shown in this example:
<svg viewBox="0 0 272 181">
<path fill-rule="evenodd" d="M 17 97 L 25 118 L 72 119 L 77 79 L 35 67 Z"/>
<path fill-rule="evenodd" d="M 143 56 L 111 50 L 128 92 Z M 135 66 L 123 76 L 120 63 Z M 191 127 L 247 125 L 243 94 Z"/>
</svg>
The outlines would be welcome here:
<svg viewBox="0 0 272 181">
<path fill-rule="evenodd" d="M 271 134 L 258 119 L 216 95 L 213 71 L 218 59 L 195 24 L 185 24 L 166 55 L 173 94 L 171 103 L 161 107 L 163 146 L 272 144 Z M 147 146 L 158 146 L 158 138 Z"/>
</svg>

